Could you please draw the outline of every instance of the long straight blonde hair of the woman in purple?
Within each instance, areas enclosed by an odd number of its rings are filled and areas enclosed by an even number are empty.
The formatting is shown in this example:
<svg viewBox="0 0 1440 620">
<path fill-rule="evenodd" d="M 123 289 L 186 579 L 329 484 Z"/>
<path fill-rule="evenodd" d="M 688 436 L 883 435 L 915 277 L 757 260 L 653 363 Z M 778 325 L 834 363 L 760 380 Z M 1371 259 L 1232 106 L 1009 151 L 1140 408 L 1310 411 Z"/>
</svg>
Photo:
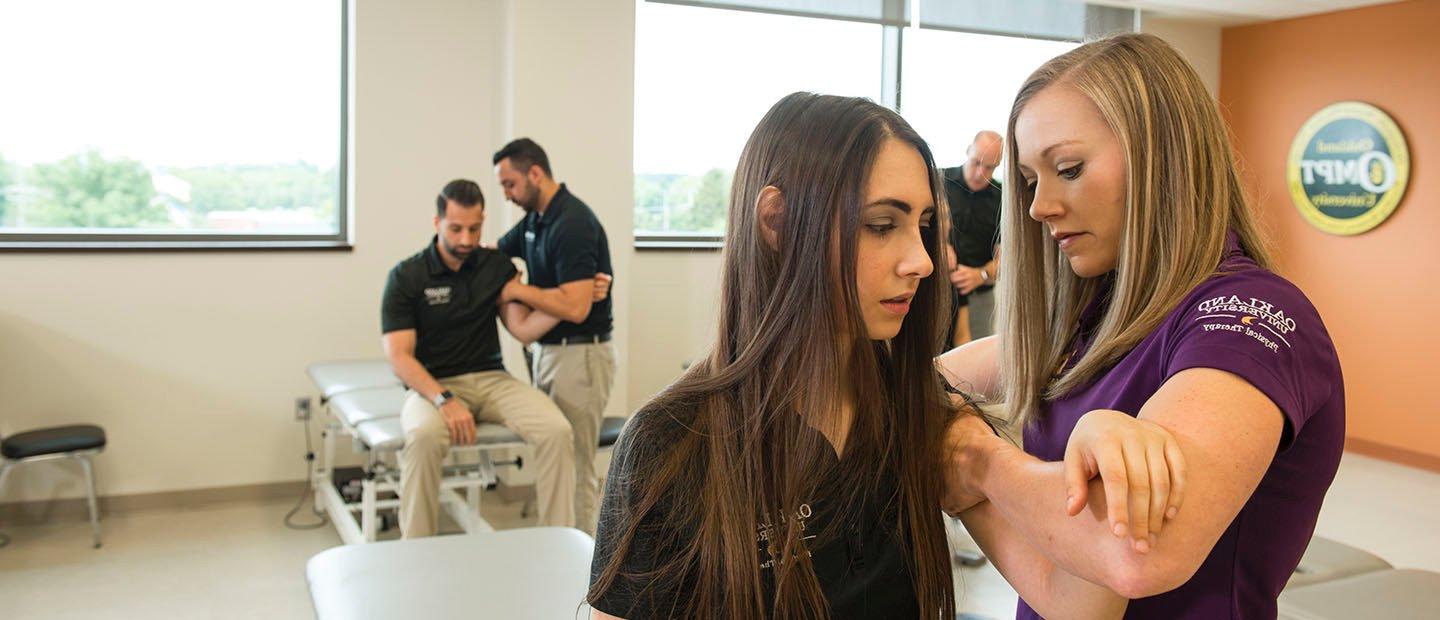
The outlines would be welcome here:
<svg viewBox="0 0 1440 620">
<path fill-rule="evenodd" d="M 1126 160 L 1125 226 L 1113 276 L 1070 269 L 1045 226 L 1028 217 L 1034 196 L 1007 183 L 1001 230 L 1001 368 L 1011 419 L 1035 420 L 1043 400 L 1084 386 L 1149 335 L 1179 301 L 1211 278 L 1234 230 L 1269 269 L 1270 253 L 1240 184 L 1224 119 L 1195 69 L 1153 35 L 1094 40 L 1035 69 L 1015 95 L 1007 171 L 1020 180 L 1015 119 L 1053 85 L 1084 94 L 1119 138 Z M 1102 282 L 1110 299 L 1092 345 L 1060 374 L 1080 314 Z"/>
</svg>

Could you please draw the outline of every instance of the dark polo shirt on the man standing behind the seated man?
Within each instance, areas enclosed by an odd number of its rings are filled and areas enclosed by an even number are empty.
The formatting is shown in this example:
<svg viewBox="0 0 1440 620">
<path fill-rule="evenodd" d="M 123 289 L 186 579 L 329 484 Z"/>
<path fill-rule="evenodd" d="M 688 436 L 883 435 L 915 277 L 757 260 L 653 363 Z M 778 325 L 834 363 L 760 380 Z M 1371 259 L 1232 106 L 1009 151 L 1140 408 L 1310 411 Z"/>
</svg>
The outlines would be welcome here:
<svg viewBox="0 0 1440 620">
<path fill-rule="evenodd" d="M 596 273 L 615 275 L 611 268 L 611 243 L 605 227 L 589 206 L 560 184 L 544 214 L 527 213 L 516 227 L 500 237 L 500 250 L 518 256 L 530 272 L 530 285 L 553 289 L 566 282 L 588 281 Z M 540 338 L 541 344 L 559 344 L 562 338 L 608 335 L 613 324 L 611 293 L 590 306 L 585 322 L 560 321 Z"/>
</svg>

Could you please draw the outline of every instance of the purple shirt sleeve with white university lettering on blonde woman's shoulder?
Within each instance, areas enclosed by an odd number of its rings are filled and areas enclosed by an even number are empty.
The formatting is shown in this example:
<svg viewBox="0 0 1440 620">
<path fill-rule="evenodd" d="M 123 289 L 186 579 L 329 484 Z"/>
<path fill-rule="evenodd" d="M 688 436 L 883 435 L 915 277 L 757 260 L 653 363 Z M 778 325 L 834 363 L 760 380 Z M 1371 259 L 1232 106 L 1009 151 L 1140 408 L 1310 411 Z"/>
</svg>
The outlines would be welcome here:
<svg viewBox="0 0 1440 620">
<path fill-rule="evenodd" d="M 1264 270 L 1214 278 L 1172 315 L 1165 378 L 1187 368 L 1238 375 L 1284 416 L 1280 449 L 1341 381 L 1339 358 L 1315 305 L 1295 285 Z"/>
</svg>

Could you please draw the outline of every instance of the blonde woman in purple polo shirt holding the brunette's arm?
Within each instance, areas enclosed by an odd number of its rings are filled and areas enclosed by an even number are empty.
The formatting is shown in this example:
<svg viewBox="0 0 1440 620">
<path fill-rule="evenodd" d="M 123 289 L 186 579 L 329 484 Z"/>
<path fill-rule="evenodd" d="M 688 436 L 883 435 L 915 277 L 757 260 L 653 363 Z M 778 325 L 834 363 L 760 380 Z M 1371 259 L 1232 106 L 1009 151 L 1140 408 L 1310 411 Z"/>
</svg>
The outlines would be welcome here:
<svg viewBox="0 0 1440 620">
<path fill-rule="evenodd" d="M 1022 619 L 1074 614 L 1034 577 L 1057 568 L 1130 598 L 1126 617 L 1276 617 L 1339 465 L 1345 390 L 1315 306 L 1272 272 L 1214 99 L 1161 39 L 1116 36 L 1030 76 L 1005 148 L 998 335 L 940 364 L 1004 403 L 1024 452 L 952 427 L 950 512 Z M 1133 419 L 1179 455 L 1066 450 Z M 1187 508 L 1104 505 L 1125 472 L 1093 463 L 1116 455 L 1132 480 L 1182 460 Z M 1165 470 L 1135 482 L 1164 491 Z"/>
</svg>

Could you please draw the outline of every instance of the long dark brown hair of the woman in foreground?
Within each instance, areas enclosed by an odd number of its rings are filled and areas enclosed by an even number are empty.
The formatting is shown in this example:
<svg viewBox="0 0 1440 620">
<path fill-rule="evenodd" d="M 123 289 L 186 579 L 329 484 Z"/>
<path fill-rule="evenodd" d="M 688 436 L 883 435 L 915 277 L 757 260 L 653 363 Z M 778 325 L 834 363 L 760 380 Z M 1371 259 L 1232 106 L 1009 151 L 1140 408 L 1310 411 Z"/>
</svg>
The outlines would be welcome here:
<svg viewBox="0 0 1440 620">
<path fill-rule="evenodd" d="M 639 488 L 618 515 L 609 561 L 589 600 L 616 580 L 636 547 L 641 521 L 664 496 L 665 518 L 680 531 L 672 557 L 657 558 L 655 575 L 693 584 L 671 610 L 678 617 L 828 617 L 824 593 L 804 550 L 796 519 L 773 519 L 773 607 L 765 601 L 756 545 L 757 519 L 785 515 L 814 498 L 816 482 L 838 476 L 848 498 L 876 489 L 883 472 L 897 476 L 893 524 L 907 545 L 922 616 L 955 616 L 953 584 L 939 511 L 939 439 L 953 414 L 932 355 L 940 347 L 949 289 L 936 270 L 920 282 L 900 332 L 871 341 L 855 286 L 855 247 L 864 187 L 887 140 L 914 147 L 929 170 L 930 194 L 942 204 L 926 142 L 897 114 L 867 99 L 798 92 L 780 99 L 750 134 L 730 190 L 720 286 L 720 325 L 708 355 L 651 400 L 626 430 L 647 436 L 644 420 L 684 429 L 674 442 L 626 450 Z M 778 247 L 765 242 L 756 201 L 765 187 L 783 196 Z M 924 246 L 936 265 L 945 239 L 943 207 Z M 840 260 L 832 260 L 832 250 Z M 842 358 L 844 355 L 844 358 Z M 838 470 L 822 472 L 827 440 L 806 420 L 831 420 L 854 398 Z M 675 499 L 678 498 L 678 499 Z M 845 501 L 848 499 L 848 501 Z M 844 516 L 821 531 L 831 539 Z M 680 525 L 683 524 L 683 525 Z M 814 541 L 812 541 L 814 544 Z M 648 542 L 647 542 L 648 545 Z"/>
</svg>

